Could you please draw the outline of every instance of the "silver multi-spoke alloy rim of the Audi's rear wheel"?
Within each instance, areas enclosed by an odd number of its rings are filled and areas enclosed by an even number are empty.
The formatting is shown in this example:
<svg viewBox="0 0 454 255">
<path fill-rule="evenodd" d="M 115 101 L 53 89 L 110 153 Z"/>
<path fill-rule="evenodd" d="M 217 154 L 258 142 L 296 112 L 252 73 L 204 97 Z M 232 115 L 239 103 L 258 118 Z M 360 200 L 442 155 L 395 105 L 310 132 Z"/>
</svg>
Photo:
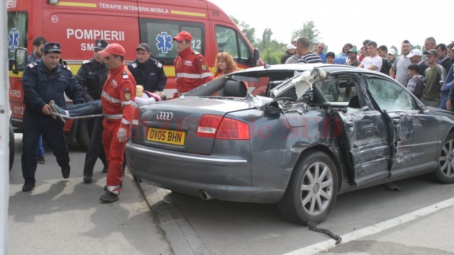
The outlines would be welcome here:
<svg viewBox="0 0 454 255">
<path fill-rule="evenodd" d="M 304 173 L 301 183 L 301 203 L 309 215 L 324 212 L 333 195 L 333 174 L 328 165 L 315 162 Z"/>
</svg>

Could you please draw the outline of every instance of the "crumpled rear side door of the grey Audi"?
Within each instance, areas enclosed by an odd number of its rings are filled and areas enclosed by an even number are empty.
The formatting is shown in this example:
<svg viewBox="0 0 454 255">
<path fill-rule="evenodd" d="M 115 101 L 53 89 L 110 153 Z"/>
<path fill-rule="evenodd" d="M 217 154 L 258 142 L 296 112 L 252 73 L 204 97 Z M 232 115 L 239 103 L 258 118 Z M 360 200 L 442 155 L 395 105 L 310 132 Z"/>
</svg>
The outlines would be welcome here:
<svg viewBox="0 0 454 255">
<path fill-rule="evenodd" d="M 357 77 L 341 75 L 323 80 L 320 88 L 333 107 L 341 106 L 341 111 L 334 113 L 338 117 L 334 120 L 342 121 L 335 124 L 338 144 L 350 169 L 348 179 L 356 186 L 364 186 L 389 176 L 390 147 L 384 116 L 367 106 L 359 84 Z"/>
</svg>

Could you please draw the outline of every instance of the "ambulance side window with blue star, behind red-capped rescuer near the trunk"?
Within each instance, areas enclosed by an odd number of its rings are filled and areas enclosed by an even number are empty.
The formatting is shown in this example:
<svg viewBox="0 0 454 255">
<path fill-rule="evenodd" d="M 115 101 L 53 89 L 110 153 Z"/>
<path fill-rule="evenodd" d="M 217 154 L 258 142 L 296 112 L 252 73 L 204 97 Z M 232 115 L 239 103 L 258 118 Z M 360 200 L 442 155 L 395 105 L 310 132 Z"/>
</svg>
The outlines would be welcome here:
<svg viewBox="0 0 454 255">
<path fill-rule="evenodd" d="M 151 54 L 162 64 L 173 64 L 177 57 L 177 42 L 172 41 L 180 31 L 192 35 L 192 49 L 205 53 L 205 28 L 203 23 L 140 19 L 140 42 L 151 47 Z"/>
</svg>

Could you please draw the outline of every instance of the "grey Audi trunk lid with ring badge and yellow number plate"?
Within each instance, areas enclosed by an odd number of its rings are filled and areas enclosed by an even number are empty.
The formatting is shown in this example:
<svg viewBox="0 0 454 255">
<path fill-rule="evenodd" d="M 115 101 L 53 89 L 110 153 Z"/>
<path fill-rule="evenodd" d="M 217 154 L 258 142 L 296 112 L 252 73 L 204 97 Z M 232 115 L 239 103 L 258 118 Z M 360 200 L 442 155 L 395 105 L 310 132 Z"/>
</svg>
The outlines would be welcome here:
<svg viewBox="0 0 454 255">
<path fill-rule="evenodd" d="M 214 137 L 199 137 L 196 129 L 203 115 L 220 115 L 254 108 L 232 98 L 185 97 L 136 109 L 131 141 L 138 145 L 191 154 L 211 154 Z"/>
</svg>

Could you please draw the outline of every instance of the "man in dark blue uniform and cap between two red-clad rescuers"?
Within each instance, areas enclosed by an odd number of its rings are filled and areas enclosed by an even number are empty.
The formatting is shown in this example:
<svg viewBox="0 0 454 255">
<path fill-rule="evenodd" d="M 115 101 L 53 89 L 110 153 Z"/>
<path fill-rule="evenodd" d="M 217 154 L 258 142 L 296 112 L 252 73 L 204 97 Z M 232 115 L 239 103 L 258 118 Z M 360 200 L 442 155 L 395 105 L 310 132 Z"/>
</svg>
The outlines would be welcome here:
<svg viewBox="0 0 454 255">
<path fill-rule="evenodd" d="M 140 43 L 135 51 L 137 59 L 128 64 L 128 69 L 135 79 L 135 84 L 142 85 L 144 91 L 163 91 L 167 77 L 162 64 L 151 57 L 150 45 Z"/>
</svg>

